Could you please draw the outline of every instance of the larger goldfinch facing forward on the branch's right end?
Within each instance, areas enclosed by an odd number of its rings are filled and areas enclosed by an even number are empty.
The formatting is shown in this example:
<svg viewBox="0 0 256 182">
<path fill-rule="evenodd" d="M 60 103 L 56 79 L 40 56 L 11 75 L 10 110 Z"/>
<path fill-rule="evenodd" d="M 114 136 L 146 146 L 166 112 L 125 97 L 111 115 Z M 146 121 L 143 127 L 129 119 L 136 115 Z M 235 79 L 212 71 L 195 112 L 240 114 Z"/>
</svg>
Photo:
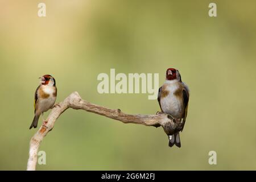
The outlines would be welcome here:
<svg viewBox="0 0 256 182">
<path fill-rule="evenodd" d="M 166 81 L 159 88 L 158 102 L 163 113 L 171 115 L 176 121 L 181 121 L 183 127 L 188 111 L 189 89 L 188 86 L 181 81 L 179 71 L 174 68 L 168 68 L 166 71 Z M 182 127 L 182 130 L 183 130 Z M 181 131 L 182 131 L 181 130 Z M 169 146 L 174 144 L 181 147 L 179 132 L 168 134 Z"/>
</svg>

